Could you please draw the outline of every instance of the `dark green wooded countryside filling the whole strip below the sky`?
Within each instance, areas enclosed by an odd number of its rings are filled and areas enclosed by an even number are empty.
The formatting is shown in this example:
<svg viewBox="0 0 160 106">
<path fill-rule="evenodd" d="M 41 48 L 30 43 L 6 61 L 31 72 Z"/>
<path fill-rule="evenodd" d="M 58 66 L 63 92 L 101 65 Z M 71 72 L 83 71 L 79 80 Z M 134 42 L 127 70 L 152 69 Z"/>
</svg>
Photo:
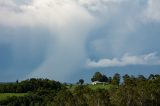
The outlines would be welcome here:
<svg viewBox="0 0 160 106">
<path fill-rule="evenodd" d="M 68 84 L 42 78 L 1 83 L 0 106 L 160 106 L 159 74 L 107 77 L 96 72 L 90 79 L 99 83 L 80 79 Z M 13 96 L 1 99 L 5 94 Z"/>
</svg>

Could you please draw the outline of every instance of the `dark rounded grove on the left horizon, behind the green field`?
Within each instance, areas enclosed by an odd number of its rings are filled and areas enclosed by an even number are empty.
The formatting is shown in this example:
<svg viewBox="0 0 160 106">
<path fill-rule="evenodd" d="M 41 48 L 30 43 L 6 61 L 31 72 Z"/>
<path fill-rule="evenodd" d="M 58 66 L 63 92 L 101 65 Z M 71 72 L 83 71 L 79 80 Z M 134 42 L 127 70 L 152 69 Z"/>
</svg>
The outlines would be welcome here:
<svg viewBox="0 0 160 106">
<path fill-rule="evenodd" d="M 53 90 L 61 88 L 61 84 L 49 79 L 31 78 L 22 82 L 0 84 L 0 93 L 27 93 L 37 90 Z"/>
</svg>

